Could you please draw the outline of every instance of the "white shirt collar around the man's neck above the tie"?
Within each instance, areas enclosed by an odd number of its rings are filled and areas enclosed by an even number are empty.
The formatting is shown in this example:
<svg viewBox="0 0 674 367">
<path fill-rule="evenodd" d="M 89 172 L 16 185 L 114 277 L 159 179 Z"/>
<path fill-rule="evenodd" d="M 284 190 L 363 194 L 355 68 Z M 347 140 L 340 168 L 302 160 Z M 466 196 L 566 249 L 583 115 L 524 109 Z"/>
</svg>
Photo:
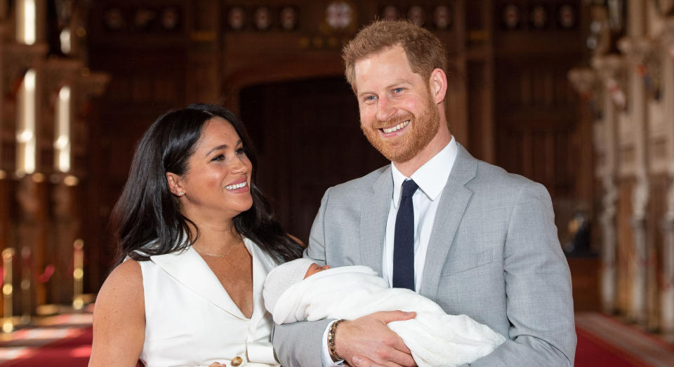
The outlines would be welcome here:
<svg viewBox="0 0 674 367">
<path fill-rule="evenodd" d="M 458 154 L 458 146 L 454 136 L 452 136 L 447 146 L 419 167 L 416 172 L 412 173 L 411 179 L 428 196 L 428 199 L 433 201 L 442 193 L 442 189 L 449 179 L 451 168 L 454 166 L 456 154 Z M 395 164 L 391 164 L 391 173 L 393 175 L 393 206 L 397 208 L 400 202 L 402 182 L 407 180 L 408 177 L 400 173 Z"/>
</svg>

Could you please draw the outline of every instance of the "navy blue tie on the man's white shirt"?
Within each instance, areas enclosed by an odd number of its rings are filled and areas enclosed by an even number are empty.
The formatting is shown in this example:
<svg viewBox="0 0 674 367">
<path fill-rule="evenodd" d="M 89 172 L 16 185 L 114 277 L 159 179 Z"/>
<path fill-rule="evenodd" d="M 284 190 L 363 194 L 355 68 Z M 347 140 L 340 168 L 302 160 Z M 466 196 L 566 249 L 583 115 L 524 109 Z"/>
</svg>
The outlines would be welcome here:
<svg viewBox="0 0 674 367">
<path fill-rule="evenodd" d="M 400 206 L 393 237 L 393 288 L 414 291 L 414 206 L 412 195 L 419 187 L 413 180 L 402 182 Z"/>
</svg>

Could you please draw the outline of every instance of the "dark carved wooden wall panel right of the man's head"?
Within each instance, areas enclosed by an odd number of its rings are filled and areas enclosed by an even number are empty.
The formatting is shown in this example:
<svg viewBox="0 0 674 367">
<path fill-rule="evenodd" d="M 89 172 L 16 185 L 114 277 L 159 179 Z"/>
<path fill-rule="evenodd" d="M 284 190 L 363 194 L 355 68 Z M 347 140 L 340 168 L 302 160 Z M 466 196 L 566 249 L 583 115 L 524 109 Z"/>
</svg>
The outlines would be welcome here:
<svg viewBox="0 0 674 367">
<path fill-rule="evenodd" d="M 541 182 L 552 196 L 576 194 L 577 101 L 567 61 L 497 60 L 496 162 Z"/>
</svg>

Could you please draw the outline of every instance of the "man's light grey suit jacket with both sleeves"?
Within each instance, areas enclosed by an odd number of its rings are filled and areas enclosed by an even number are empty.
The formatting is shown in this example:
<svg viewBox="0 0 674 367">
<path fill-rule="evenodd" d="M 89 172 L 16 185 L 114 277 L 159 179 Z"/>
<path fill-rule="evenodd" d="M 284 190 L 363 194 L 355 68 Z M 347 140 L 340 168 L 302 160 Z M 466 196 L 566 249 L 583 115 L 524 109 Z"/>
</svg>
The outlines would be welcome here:
<svg viewBox="0 0 674 367">
<path fill-rule="evenodd" d="M 367 265 L 381 275 L 392 189 L 390 166 L 328 189 L 305 257 L 331 267 Z M 509 339 L 472 366 L 574 363 L 571 275 L 550 195 L 461 146 L 440 197 L 420 292 Z M 272 339 L 283 366 L 321 366 L 327 323 L 277 326 Z"/>
</svg>

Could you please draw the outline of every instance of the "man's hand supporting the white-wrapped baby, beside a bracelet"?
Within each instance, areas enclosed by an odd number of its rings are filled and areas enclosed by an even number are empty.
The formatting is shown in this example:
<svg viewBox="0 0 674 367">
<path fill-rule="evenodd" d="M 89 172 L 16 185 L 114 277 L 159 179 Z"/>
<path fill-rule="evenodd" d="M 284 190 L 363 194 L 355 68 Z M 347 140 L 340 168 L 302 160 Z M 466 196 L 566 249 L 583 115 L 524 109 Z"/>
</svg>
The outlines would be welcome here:
<svg viewBox="0 0 674 367">
<path fill-rule="evenodd" d="M 407 345 L 386 326 L 415 316 L 415 312 L 386 311 L 344 321 L 335 331 L 336 352 L 351 366 L 416 366 Z"/>
</svg>

